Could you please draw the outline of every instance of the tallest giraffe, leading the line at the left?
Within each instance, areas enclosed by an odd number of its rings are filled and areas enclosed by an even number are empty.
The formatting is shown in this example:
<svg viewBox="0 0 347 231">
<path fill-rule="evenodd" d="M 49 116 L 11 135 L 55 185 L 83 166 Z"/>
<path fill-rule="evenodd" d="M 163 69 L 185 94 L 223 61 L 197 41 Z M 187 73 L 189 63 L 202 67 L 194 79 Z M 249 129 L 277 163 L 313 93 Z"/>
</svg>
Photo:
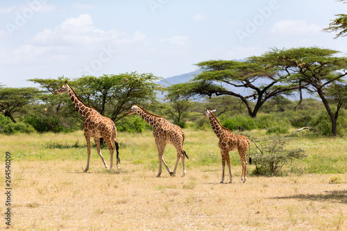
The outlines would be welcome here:
<svg viewBox="0 0 347 231">
<path fill-rule="evenodd" d="M 85 119 L 85 121 L 83 122 L 83 132 L 85 135 L 85 140 L 87 142 L 87 166 L 85 167 L 84 172 L 87 172 L 89 169 L 90 137 L 94 138 L 96 150 L 101 157 L 101 160 L 103 161 L 106 169 L 108 169 L 108 164 L 106 164 L 105 160 L 103 159 L 103 155 L 101 155 L 100 138 L 103 138 L 108 146 L 108 149 L 110 150 L 110 169 L 112 169 L 113 166 L 113 152 L 115 151 L 113 144 L 115 144 L 117 151 L 117 169 L 119 169 L 119 144 L 117 142 L 117 128 L 115 126 L 115 123 L 113 123 L 113 121 L 108 117 L 103 117 L 101 114 L 99 114 L 99 112 L 95 110 L 95 108 L 92 108 L 83 103 L 83 101 L 81 101 L 81 99 L 79 99 L 74 92 L 74 89 L 67 85 L 67 83 L 62 85 L 62 87 L 54 92 L 54 94 L 60 93 L 69 94 L 74 107 Z"/>
</svg>

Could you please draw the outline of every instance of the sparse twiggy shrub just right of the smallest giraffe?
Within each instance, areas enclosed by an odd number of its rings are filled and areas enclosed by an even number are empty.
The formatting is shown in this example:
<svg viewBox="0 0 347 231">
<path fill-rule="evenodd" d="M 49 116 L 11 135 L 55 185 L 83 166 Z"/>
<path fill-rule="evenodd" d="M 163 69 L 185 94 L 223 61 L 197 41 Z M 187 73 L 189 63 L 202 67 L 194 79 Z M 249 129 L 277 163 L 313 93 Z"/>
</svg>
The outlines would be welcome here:
<svg viewBox="0 0 347 231">
<path fill-rule="evenodd" d="M 290 166 L 294 159 L 303 159 L 306 156 L 302 148 L 285 149 L 287 141 L 286 137 L 273 137 L 257 145 L 260 153 L 253 155 L 252 160 L 255 163 L 253 173 L 262 176 L 280 176 L 283 166 Z"/>
</svg>

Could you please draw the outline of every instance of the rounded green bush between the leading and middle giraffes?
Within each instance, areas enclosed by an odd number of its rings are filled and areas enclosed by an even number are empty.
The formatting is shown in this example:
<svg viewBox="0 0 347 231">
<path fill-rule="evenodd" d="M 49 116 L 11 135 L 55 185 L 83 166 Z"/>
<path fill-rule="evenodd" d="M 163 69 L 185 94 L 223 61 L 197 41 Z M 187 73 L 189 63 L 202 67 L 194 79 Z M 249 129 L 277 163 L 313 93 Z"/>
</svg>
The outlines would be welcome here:
<svg viewBox="0 0 347 231">
<path fill-rule="evenodd" d="M 144 132 L 153 129 L 144 119 L 138 115 L 124 117 L 116 123 L 117 131 L 119 132 Z"/>
</svg>

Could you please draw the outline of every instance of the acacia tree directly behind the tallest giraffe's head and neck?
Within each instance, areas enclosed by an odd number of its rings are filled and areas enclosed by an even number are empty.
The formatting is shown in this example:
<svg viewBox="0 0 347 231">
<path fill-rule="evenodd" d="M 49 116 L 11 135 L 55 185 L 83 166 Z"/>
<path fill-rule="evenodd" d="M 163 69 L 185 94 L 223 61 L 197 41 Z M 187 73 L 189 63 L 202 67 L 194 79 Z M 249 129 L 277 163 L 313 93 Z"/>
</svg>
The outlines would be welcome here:
<svg viewBox="0 0 347 231">
<path fill-rule="evenodd" d="M 62 95 L 61 98 L 54 96 L 53 93 L 58 87 L 65 82 L 66 78 L 58 78 L 56 80 L 33 79 L 31 81 L 38 83 L 42 88 L 46 89 L 46 93 L 50 96 L 44 96 L 44 99 L 56 102 L 57 110 L 62 105 L 67 105 L 67 112 L 70 117 L 81 116 L 76 112 L 76 109 L 69 101 L 67 95 Z M 142 104 L 145 102 L 155 102 L 158 90 L 156 81 L 159 77 L 153 74 L 138 74 L 137 72 L 118 74 L 118 75 L 103 75 L 103 76 L 83 76 L 69 80 L 69 85 L 74 88 L 79 98 L 87 105 L 95 108 L 103 116 L 109 117 L 113 121 L 118 121 L 126 115 L 130 102 Z M 57 87 L 58 86 L 58 87 Z M 57 101 L 58 100 L 58 101 Z"/>
</svg>

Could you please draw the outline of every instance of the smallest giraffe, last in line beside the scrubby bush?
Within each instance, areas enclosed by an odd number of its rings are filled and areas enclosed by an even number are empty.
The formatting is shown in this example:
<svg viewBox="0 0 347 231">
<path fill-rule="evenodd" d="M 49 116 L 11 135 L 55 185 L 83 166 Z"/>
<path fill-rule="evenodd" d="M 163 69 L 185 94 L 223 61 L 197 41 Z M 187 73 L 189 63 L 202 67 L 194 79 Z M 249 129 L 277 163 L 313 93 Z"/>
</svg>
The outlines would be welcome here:
<svg viewBox="0 0 347 231">
<path fill-rule="evenodd" d="M 232 134 L 232 132 L 228 128 L 224 128 L 221 126 L 221 123 L 219 123 L 216 116 L 214 116 L 213 112 L 216 110 L 210 110 L 206 108 L 205 110 L 205 119 L 210 119 L 210 123 L 212 126 L 212 130 L 219 138 L 219 149 L 221 150 L 221 163 L 222 163 L 222 173 L 221 173 L 221 183 L 224 181 L 224 169 L 226 167 L 226 164 L 228 165 L 229 170 L 229 178 L 230 182 L 232 182 L 232 176 L 231 176 L 231 170 L 230 170 L 230 151 L 239 151 L 239 156 L 241 158 L 242 162 L 242 174 L 241 174 L 241 183 L 246 182 L 247 180 L 247 173 L 246 173 L 246 166 L 247 166 L 247 149 L 250 148 L 250 143 L 247 137 L 244 137 L 243 135 L 235 135 Z M 251 155 L 251 153 L 250 153 Z M 249 158 L 249 162 L 251 164 L 251 157 Z"/>
</svg>

